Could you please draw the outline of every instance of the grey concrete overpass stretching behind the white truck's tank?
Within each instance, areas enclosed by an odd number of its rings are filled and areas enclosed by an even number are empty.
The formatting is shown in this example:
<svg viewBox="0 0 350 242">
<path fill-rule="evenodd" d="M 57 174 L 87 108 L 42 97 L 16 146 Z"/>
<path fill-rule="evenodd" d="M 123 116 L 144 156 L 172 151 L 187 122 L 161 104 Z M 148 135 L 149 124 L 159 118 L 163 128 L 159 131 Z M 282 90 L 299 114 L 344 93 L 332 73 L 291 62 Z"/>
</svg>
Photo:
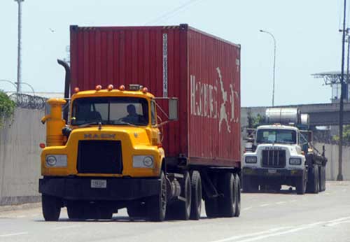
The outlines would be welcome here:
<svg viewBox="0 0 350 242">
<path fill-rule="evenodd" d="M 243 107 L 241 108 L 241 126 L 248 125 L 248 115 L 265 115 L 269 106 L 264 107 Z M 301 113 L 308 113 L 310 126 L 332 126 L 339 124 L 339 104 L 297 104 L 288 106 L 274 106 L 274 108 L 299 108 Z M 344 103 L 344 124 L 350 124 L 350 102 Z"/>
</svg>

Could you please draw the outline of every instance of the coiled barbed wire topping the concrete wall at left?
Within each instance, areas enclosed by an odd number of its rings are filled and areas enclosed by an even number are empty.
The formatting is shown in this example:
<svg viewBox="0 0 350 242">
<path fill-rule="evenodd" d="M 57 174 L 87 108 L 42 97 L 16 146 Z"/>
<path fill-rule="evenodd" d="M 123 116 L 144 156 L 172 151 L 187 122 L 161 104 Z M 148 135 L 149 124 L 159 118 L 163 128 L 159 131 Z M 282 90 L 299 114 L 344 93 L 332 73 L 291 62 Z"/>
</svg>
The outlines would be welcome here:
<svg viewBox="0 0 350 242">
<path fill-rule="evenodd" d="M 10 94 L 10 99 L 13 100 L 18 108 L 43 110 L 46 106 L 47 99 L 44 97 L 33 96 L 23 93 Z"/>
</svg>

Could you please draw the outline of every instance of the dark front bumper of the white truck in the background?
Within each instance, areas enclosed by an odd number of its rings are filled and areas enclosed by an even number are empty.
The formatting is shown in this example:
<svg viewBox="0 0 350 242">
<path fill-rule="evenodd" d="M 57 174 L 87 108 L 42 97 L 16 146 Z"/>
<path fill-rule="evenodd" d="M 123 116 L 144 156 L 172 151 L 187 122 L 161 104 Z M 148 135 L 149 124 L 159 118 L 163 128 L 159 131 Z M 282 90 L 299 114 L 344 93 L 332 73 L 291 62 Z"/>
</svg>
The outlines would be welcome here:
<svg viewBox="0 0 350 242">
<path fill-rule="evenodd" d="M 243 167 L 241 172 L 244 176 L 296 177 L 302 176 L 304 170 Z"/>
</svg>

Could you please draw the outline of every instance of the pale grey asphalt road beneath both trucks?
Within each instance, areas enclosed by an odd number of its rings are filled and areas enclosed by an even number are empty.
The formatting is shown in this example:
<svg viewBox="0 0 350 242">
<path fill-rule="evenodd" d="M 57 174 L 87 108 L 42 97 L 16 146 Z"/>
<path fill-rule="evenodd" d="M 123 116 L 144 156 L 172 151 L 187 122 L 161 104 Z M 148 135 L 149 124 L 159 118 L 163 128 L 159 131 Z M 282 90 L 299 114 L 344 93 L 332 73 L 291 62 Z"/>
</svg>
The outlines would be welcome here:
<svg viewBox="0 0 350 242">
<path fill-rule="evenodd" d="M 286 187 L 283 187 L 286 188 Z M 350 241 L 350 182 L 329 182 L 319 194 L 242 194 L 239 218 L 45 222 L 41 208 L 0 213 L 0 241 Z"/>
</svg>

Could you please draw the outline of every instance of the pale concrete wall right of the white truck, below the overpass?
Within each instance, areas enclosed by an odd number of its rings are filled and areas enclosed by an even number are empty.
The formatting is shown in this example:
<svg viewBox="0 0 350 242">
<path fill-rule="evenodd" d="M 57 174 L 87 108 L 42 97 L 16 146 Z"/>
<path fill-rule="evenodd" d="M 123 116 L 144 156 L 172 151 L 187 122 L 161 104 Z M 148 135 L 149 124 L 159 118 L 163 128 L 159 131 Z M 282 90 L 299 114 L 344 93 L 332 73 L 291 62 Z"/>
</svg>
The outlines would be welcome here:
<svg viewBox="0 0 350 242">
<path fill-rule="evenodd" d="M 325 170 L 325 177 L 327 180 L 336 180 L 338 174 L 338 145 L 330 145 L 323 143 L 316 143 L 317 150 L 322 152 L 322 146 L 325 145 L 325 157 L 328 163 Z M 344 180 L 350 180 L 350 146 L 343 146 L 342 154 L 342 174 Z"/>
</svg>

